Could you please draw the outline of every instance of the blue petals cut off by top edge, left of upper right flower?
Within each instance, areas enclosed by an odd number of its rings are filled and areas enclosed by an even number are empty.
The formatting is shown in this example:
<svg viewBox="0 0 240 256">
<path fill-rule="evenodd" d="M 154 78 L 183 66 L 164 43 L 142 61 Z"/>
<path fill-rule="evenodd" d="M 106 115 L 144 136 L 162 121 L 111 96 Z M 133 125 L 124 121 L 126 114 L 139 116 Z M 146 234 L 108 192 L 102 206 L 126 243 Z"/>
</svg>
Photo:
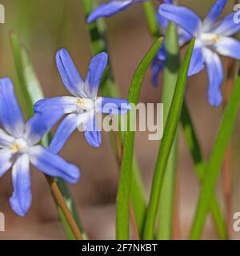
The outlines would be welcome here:
<svg viewBox="0 0 240 256">
<path fill-rule="evenodd" d="M 102 3 L 98 6 L 87 18 L 87 22 L 94 22 L 101 17 L 109 17 L 128 9 L 137 2 L 146 2 L 149 0 L 112 0 L 110 2 Z"/>
</svg>

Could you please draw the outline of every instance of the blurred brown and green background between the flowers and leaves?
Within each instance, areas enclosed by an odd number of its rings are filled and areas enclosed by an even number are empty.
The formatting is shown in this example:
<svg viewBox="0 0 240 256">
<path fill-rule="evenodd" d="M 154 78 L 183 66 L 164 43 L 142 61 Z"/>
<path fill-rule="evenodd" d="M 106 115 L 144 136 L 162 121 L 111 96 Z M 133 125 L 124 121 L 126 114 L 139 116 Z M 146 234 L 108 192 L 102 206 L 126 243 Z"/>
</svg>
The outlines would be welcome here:
<svg viewBox="0 0 240 256">
<path fill-rule="evenodd" d="M 201 17 L 206 15 L 214 2 L 179 0 L 179 4 L 190 6 Z M 225 14 L 233 9 L 233 2 L 229 1 Z M 0 0 L 0 3 L 6 9 L 6 24 L 0 24 L 0 77 L 8 76 L 18 83 L 9 39 L 9 32 L 13 30 L 29 50 L 45 95 L 47 97 L 66 95 L 67 92 L 55 66 L 56 51 L 66 47 L 74 58 L 82 77 L 86 75 L 91 58 L 90 37 L 82 13 L 81 0 Z M 122 98 L 126 98 L 134 70 L 150 48 L 152 39 L 148 34 L 141 4 L 112 18 L 107 18 L 106 23 L 114 75 Z M 223 61 L 225 62 L 225 59 Z M 208 158 L 218 130 L 222 107 L 215 109 L 208 105 L 206 89 L 206 72 L 203 71 L 188 80 L 186 101 L 198 131 L 202 150 Z M 142 87 L 141 102 L 159 102 L 160 97 L 161 87 L 156 89 L 151 86 L 149 71 Z M 240 116 L 232 139 L 233 212 L 240 211 L 239 131 Z M 143 180 L 149 194 L 159 142 L 148 141 L 147 135 L 143 132 L 137 133 L 135 145 Z M 67 161 L 74 162 L 82 170 L 81 182 L 70 186 L 70 189 L 90 239 L 114 239 L 115 232 L 118 168 L 110 148 L 108 134 L 102 132 L 102 137 L 102 147 L 94 149 L 86 144 L 83 135 L 77 131 L 61 152 Z M 33 204 L 29 214 L 20 218 L 10 210 L 8 202 L 13 190 L 10 171 L 0 179 L 0 211 L 6 215 L 6 232 L 0 233 L 0 239 L 65 239 L 44 176 L 38 170 L 33 170 L 32 180 Z M 179 144 L 178 180 L 181 238 L 187 238 L 198 199 L 199 183 L 182 131 Z M 222 198 L 222 178 L 219 179 L 218 185 L 218 195 Z M 224 206 L 223 199 L 222 206 Z M 211 218 L 206 222 L 204 238 L 216 238 Z M 240 238 L 240 234 L 233 231 L 231 238 Z"/>
</svg>

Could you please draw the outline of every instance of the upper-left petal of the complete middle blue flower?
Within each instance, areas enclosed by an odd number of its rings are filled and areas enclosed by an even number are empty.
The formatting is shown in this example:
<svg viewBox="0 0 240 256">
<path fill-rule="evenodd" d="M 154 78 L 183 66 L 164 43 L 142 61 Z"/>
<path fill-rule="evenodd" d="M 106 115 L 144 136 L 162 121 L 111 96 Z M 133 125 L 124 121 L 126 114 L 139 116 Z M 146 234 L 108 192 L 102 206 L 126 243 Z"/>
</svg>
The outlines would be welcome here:
<svg viewBox="0 0 240 256">
<path fill-rule="evenodd" d="M 58 50 L 56 63 L 62 82 L 70 94 L 76 97 L 86 98 L 84 82 L 66 49 Z"/>
</svg>

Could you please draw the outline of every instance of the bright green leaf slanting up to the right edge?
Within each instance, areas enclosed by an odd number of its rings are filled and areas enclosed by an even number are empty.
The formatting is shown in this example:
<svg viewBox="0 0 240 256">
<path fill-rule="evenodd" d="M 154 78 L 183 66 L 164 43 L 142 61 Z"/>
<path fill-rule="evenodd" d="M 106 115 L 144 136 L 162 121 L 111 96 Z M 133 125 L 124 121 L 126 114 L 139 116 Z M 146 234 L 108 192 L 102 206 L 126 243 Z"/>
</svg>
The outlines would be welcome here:
<svg viewBox="0 0 240 256">
<path fill-rule="evenodd" d="M 234 124 L 238 116 L 240 107 L 240 76 L 238 76 L 230 100 L 224 111 L 222 122 L 218 131 L 218 136 L 214 142 L 213 150 L 210 154 L 210 160 L 206 166 L 206 175 L 202 183 L 202 190 L 198 199 L 198 207 L 195 213 L 190 239 L 201 238 L 202 229 L 206 219 L 206 214 L 210 209 L 214 188 L 218 181 L 218 175 L 221 171 L 222 161 L 226 146 L 230 140 L 230 135 L 234 130 Z"/>
</svg>

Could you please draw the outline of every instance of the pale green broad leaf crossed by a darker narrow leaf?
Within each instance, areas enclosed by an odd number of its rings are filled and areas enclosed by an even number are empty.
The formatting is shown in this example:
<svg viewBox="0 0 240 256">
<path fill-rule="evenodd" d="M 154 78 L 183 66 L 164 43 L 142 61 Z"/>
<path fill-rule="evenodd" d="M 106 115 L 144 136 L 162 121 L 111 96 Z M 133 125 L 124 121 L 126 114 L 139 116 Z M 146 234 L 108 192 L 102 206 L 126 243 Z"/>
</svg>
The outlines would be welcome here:
<svg viewBox="0 0 240 256">
<path fill-rule="evenodd" d="M 170 23 L 166 30 L 166 64 L 163 71 L 162 103 L 164 106 L 164 125 L 168 117 L 170 106 L 174 97 L 174 90 L 178 80 L 179 71 L 179 45 L 177 26 Z M 174 224 L 174 196 L 176 188 L 176 174 L 178 166 L 178 131 L 168 162 L 166 174 L 162 183 L 162 190 L 159 202 L 159 223 L 157 238 L 160 240 L 170 240 L 173 238 Z"/>
</svg>

